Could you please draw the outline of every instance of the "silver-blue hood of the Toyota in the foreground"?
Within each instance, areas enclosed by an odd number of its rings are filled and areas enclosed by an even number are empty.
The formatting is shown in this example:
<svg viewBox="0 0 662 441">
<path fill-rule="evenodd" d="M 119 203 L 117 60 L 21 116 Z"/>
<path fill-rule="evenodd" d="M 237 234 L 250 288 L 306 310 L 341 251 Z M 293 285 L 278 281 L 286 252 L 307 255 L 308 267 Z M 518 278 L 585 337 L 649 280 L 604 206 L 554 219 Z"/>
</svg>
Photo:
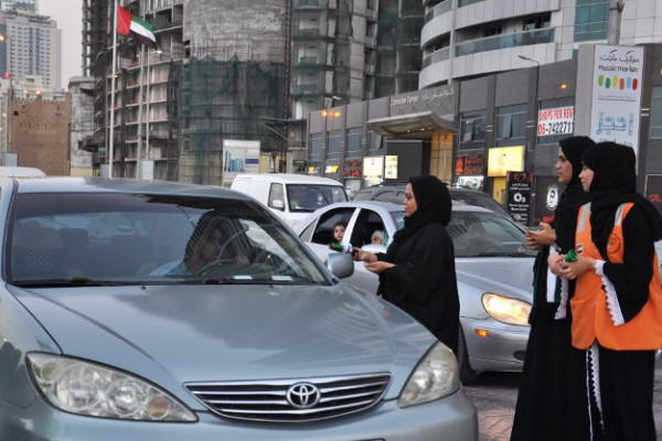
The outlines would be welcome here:
<svg viewBox="0 0 662 441">
<path fill-rule="evenodd" d="M 10 289 L 63 354 L 175 394 L 185 381 L 389 372 L 396 396 L 435 342 L 345 283 Z"/>
</svg>

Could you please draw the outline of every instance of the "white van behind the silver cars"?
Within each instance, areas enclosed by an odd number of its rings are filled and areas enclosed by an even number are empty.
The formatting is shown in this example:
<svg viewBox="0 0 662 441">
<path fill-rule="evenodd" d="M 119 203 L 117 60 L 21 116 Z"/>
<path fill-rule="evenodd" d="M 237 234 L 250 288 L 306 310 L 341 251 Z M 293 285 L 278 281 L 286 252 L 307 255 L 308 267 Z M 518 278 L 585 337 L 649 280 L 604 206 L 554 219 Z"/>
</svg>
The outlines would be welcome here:
<svg viewBox="0 0 662 441">
<path fill-rule="evenodd" d="M 348 200 L 340 182 L 306 174 L 237 174 L 232 189 L 255 197 L 290 227 L 317 208 Z"/>
</svg>

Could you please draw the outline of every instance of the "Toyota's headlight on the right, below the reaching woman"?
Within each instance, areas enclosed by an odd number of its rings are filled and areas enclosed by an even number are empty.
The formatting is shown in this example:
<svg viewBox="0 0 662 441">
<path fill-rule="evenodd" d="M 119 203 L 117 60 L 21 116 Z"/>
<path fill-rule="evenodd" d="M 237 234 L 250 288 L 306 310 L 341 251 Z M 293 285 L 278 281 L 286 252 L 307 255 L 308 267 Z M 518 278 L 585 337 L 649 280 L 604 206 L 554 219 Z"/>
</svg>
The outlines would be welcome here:
<svg viewBox="0 0 662 441">
<path fill-rule="evenodd" d="M 458 362 L 446 345 L 436 343 L 418 363 L 399 398 L 399 407 L 421 405 L 460 388 Z"/>
</svg>

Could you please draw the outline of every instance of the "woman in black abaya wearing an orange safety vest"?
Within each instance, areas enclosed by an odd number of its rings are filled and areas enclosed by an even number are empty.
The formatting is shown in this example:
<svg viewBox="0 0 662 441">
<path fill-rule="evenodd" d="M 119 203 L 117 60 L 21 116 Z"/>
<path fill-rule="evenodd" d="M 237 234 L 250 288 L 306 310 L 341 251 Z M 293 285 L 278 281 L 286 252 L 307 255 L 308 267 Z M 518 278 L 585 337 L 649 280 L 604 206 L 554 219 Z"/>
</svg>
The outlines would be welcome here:
<svg viewBox="0 0 662 441">
<path fill-rule="evenodd" d="M 577 279 L 570 299 L 573 346 L 586 351 L 594 439 L 654 441 L 655 349 L 662 347 L 662 288 L 655 240 L 662 219 L 636 193 L 634 151 L 600 142 L 584 155 L 577 261 L 559 262 Z"/>
</svg>

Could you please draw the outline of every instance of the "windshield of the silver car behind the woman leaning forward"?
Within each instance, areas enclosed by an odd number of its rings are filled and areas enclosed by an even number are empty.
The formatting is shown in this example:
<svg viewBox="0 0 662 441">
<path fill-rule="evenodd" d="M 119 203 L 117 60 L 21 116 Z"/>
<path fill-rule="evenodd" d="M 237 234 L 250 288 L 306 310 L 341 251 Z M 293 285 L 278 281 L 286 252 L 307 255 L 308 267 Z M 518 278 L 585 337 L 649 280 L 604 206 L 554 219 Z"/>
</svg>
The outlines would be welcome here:
<svg viewBox="0 0 662 441">
<path fill-rule="evenodd" d="M 456 257 L 535 256 L 521 228 L 491 213 L 453 211 L 447 229 Z"/>
</svg>

